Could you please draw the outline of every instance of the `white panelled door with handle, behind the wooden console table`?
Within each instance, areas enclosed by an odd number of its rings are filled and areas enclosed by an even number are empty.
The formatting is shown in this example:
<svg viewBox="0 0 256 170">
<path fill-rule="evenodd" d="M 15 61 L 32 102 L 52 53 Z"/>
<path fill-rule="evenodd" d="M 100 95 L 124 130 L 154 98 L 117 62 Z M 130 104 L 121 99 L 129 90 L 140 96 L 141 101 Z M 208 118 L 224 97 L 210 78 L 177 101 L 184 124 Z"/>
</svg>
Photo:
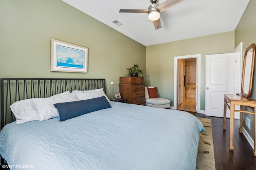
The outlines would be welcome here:
<svg viewBox="0 0 256 170">
<path fill-rule="evenodd" d="M 224 94 L 235 92 L 234 53 L 206 55 L 205 115 L 223 117 Z M 227 109 L 227 117 L 230 111 Z"/>
</svg>

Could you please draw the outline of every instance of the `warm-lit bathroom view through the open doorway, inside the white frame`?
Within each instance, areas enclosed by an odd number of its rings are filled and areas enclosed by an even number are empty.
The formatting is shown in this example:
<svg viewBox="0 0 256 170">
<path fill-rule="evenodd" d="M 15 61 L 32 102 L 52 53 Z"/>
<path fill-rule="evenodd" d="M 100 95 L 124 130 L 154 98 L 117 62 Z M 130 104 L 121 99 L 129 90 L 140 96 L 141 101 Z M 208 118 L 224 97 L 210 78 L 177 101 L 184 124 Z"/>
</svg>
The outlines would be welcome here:
<svg viewBox="0 0 256 170">
<path fill-rule="evenodd" d="M 178 63 L 179 102 L 177 109 L 196 112 L 196 58 L 179 59 Z M 180 66 L 180 64 L 183 65 Z"/>
</svg>

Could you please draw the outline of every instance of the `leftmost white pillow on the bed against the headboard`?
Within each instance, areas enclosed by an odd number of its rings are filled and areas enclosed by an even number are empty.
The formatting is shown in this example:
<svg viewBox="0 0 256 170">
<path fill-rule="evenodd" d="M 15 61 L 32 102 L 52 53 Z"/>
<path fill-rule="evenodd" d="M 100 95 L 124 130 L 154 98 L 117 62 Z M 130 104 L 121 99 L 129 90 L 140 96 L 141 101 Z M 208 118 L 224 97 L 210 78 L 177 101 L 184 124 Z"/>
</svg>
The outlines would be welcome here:
<svg viewBox="0 0 256 170">
<path fill-rule="evenodd" d="M 14 102 L 10 106 L 10 109 L 14 113 L 17 124 L 39 120 L 38 110 L 34 106 L 32 99 Z"/>
</svg>

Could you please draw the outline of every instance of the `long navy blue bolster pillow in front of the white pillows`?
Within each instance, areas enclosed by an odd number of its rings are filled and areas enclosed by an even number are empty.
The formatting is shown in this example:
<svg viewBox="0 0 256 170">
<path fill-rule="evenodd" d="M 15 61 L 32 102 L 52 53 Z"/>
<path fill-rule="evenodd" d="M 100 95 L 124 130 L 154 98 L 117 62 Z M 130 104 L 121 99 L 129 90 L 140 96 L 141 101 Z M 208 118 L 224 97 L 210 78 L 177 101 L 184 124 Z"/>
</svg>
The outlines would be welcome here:
<svg viewBox="0 0 256 170">
<path fill-rule="evenodd" d="M 110 108 L 110 104 L 105 96 L 88 100 L 78 100 L 75 102 L 54 104 L 60 115 L 60 121 L 65 121 L 90 113 L 93 111 Z"/>
</svg>

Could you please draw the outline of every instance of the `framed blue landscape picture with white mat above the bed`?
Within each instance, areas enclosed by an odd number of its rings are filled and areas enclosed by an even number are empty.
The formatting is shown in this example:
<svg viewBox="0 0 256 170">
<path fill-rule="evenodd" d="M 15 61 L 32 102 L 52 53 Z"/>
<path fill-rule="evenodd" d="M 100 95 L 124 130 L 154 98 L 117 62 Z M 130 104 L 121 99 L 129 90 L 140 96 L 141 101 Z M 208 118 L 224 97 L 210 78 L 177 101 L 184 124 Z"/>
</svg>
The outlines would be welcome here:
<svg viewBox="0 0 256 170">
<path fill-rule="evenodd" d="M 87 72 L 88 48 L 52 39 L 51 71 Z"/>
</svg>

